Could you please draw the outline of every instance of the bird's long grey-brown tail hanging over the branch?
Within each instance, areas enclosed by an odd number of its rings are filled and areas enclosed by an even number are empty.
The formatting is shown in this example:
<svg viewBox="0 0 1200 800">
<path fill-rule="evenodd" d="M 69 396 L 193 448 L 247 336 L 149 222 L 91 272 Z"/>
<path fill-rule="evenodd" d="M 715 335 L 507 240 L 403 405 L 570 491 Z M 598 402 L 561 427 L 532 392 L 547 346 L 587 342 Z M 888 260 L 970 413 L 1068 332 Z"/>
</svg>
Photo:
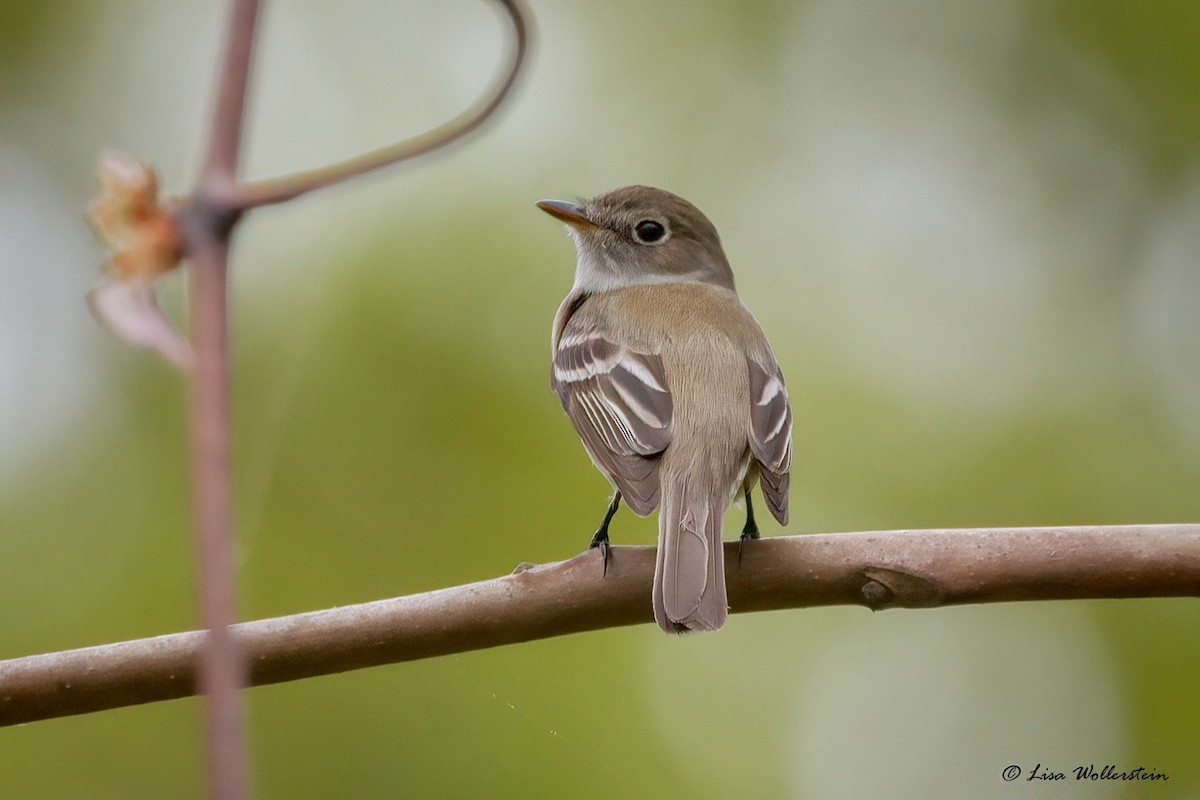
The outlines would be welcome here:
<svg viewBox="0 0 1200 800">
<path fill-rule="evenodd" d="M 667 633 L 715 631 L 728 615 L 721 527 L 730 491 L 703 474 L 672 473 L 661 476 L 654 620 Z"/>
</svg>

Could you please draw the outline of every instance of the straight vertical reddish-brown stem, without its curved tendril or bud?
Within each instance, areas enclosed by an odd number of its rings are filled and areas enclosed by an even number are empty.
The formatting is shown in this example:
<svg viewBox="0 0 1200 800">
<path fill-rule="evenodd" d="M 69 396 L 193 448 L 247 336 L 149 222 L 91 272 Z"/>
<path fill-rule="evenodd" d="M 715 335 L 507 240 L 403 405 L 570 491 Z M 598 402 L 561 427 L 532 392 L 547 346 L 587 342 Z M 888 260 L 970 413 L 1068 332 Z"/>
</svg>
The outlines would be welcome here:
<svg viewBox="0 0 1200 800">
<path fill-rule="evenodd" d="M 229 626 L 236 621 L 229 423 L 228 263 L 246 85 L 258 0 L 233 0 L 212 130 L 197 192 L 181 215 L 191 260 L 191 320 L 196 361 L 191 392 L 192 524 L 200 622 L 208 633 L 197 682 L 205 694 L 209 793 L 246 796 L 240 690 L 245 664 Z"/>
</svg>

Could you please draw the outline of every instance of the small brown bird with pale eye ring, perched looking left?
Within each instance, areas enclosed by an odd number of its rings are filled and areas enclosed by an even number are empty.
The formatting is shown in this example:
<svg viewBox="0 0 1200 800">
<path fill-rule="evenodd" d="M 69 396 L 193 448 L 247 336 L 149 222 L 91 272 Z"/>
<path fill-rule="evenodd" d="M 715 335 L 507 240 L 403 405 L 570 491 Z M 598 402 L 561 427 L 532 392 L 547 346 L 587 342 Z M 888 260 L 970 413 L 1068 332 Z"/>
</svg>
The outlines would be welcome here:
<svg viewBox="0 0 1200 800">
<path fill-rule="evenodd" d="M 713 223 L 682 197 L 626 186 L 542 200 L 575 240 L 575 285 L 554 317 L 551 386 L 616 493 L 592 547 L 607 569 L 620 499 L 661 505 L 654 619 L 668 633 L 725 624 L 725 511 L 750 491 L 787 524 L 792 410 L 767 337 L 738 299 Z"/>
</svg>

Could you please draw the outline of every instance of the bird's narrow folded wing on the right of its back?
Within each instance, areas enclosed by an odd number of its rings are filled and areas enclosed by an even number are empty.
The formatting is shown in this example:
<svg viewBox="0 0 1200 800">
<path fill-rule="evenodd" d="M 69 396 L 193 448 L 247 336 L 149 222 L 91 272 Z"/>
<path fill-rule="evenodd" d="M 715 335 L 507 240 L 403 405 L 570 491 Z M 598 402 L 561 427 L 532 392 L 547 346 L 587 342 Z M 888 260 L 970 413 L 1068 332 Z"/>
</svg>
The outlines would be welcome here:
<svg viewBox="0 0 1200 800">
<path fill-rule="evenodd" d="M 787 524 L 787 487 L 792 469 L 792 407 L 784 374 L 774 359 L 762 365 L 746 359 L 750 375 L 750 452 L 758 461 L 758 480 L 770 513 Z"/>
</svg>

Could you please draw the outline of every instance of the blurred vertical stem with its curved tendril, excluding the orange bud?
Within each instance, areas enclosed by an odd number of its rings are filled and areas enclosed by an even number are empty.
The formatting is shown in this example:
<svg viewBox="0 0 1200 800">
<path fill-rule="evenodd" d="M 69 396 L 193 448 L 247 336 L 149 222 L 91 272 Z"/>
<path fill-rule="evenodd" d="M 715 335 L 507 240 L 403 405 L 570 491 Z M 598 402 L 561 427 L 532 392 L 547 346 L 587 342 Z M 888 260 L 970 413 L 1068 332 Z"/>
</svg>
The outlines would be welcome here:
<svg viewBox="0 0 1200 800">
<path fill-rule="evenodd" d="M 233 559 L 229 425 L 229 243 L 242 213 L 316 188 L 382 169 L 436 150 L 476 130 L 504 98 L 524 64 L 528 25 L 517 0 L 498 0 L 516 37 L 511 62 L 498 88 L 473 109 L 416 139 L 373 154 L 257 185 L 238 184 L 250 67 L 254 53 L 258 0 L 233 0 L 226 50 L 218 73 L 208 151 L 196 191 L 173 213 L 182 255 L 191 267 L 191 332 L 194 357 L 191 391 L 192 517 L 198 564 L 200 622 L 192 643 L 188 691 L 208 698 L 206 741 L 210 795 L 235 800 L 246 794 L 245 747 L 239 691 L 246 682 L 239 648 L 230 634 L 236 619 Z M 197 660 L 194 672 L 192 660 Z M 194 684 L 194 687 L 193 687 Z"/>
</svg>

